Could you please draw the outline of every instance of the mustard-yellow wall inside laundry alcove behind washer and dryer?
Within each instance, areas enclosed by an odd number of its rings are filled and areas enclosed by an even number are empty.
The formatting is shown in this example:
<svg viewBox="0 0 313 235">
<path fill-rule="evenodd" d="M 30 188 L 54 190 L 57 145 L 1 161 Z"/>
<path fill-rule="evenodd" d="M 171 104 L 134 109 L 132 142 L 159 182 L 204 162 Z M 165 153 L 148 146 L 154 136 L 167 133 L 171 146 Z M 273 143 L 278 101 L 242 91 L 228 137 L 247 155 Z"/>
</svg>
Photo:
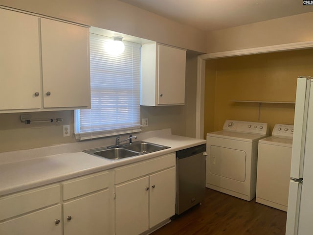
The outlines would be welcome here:
<svg viewBox="0 0 313 235">
<path fill-rule="evenodd" d="M 296 81 L 313 74 L 313 49 L 206 61 L 204 136 L 226 119 L 293 124 L 294 104 L 230 100 L 295 101 Z M 260 119 L 259 119 L 260 115 Z"/>
</svg>

